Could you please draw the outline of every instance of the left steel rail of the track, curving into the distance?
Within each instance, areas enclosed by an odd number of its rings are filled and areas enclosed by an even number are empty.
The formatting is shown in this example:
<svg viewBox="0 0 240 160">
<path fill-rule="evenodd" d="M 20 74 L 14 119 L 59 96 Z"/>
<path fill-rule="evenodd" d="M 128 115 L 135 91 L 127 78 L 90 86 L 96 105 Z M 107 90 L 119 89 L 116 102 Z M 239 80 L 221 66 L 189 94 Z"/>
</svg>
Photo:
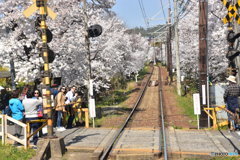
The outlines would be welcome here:
<svg viewBox="0 0 240 160">
<path fill-rule="evenodd" d="M 139 103 L 141 102 L 142 100 L 142 97 L 145 93 L 145 90 L 148 86 L 148 83 L 150 81 L 150 78 L 153 74 L 153 70 L 154 70 L 154 66 L 152 68 L 152 71 L 151 71 L 151 75 L 148 77 L 148 80 L 143 88 L 143 90 L 141 91 L 141 94 L 139 95 L 138 99 L 137 99 L 137 102 L 135 103 L 131 113 L 129 114 L 129 116 L 127 117 L 127 119 L 125 120 L 124 124 L 122 125 L 122 127 L 117 131 L 116 135 L 114 136 L 114 138 L 112 139 L 112 141 L 110 142 L 110 144 L 108 145 L 107 149 L 103 152 L 102 156 L 100 157 L 100 160 L 105 160 L 107 157 L 108 157 L 108 154 L 110 153 L 113 145 L 117 142 L 118 140 L 118 137 L 122 134 L 122 131 L 124 130 L 124 128 L 126 127 L 127 123 L 129 122 L 130 118 L 132 117 L 134 111 L 136 110 L 137 106 L 139 105 Z"/>
</svg>

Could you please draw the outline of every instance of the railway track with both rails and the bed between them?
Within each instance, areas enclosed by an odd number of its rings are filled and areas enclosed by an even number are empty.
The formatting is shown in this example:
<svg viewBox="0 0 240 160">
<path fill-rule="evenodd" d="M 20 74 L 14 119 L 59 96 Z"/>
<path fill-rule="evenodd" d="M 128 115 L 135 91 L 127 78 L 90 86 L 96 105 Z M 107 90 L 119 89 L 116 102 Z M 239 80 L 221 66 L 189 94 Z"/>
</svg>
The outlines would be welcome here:
<svg viewBox="0 0 240 160">
<path fill-rule="evenodd" d="M 158 159 L 162 153 L 167 157 L 160 72 L 159 67 L 152 68 L 131 113 L 108 143 L 101 160 L 143 156 Z"/>
</svg>

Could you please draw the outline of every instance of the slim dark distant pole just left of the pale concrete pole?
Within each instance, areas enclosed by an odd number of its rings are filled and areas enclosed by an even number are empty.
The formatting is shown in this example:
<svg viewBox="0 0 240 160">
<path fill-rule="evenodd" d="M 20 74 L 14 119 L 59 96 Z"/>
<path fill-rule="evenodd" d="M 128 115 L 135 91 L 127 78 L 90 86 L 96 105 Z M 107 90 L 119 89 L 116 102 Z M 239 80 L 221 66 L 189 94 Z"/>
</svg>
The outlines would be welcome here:
<svg viewBox="0 0 240 160">
<path fill-rule="evenodd" d="M 167 36 L 167 59 L 168 59 L 168 72 L 170 77 L 170 83 L 173 80 L 172 75 L 172 44 L 171 44 L 171 37 L 172 37 L 172 31 L 171 31 L 171 3 L 170 0 L 168 0 L 168 36 Z"/>
</svg>

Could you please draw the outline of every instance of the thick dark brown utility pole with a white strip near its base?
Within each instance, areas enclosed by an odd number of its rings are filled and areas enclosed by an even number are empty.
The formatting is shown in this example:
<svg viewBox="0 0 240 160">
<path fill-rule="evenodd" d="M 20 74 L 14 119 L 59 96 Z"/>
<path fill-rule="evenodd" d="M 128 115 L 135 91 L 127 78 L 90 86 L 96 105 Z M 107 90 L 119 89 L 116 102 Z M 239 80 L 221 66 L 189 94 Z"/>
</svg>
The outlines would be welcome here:
<svg viewBox="0 0 240 160">
<path fill-rule="evenodd" d="M 207 114 L 203 110 L 203 105 L 206 105 L 207 100 L 207 6 L 207 0 L 199 1 L 199 93 L 201 100 L 200 127 L 207 127 Z"/>
</svg>

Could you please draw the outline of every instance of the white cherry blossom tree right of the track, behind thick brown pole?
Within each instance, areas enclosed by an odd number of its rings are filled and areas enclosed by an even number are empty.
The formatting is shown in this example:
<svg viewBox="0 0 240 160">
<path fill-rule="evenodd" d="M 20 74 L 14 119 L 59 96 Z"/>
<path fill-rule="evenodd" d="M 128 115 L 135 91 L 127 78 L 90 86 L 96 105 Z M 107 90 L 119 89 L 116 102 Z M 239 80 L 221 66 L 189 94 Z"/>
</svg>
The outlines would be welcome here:
<svg viewBox="0 0 240 160">
<path fill-rule="evenodd" d="M 220 81 L 227 67 L 226 25 L 218 17 L 224 17 L 221 1 L 209 1 L 208 4 L 208 63 L 209 74 Z M 185 14 L 179 20 L 181 70 L 185 74 L 198 74 L 199 54 L 199 2 L 190 1 Z M 216 17 L 216 15 L 218 17 Z"/>
</svg>

